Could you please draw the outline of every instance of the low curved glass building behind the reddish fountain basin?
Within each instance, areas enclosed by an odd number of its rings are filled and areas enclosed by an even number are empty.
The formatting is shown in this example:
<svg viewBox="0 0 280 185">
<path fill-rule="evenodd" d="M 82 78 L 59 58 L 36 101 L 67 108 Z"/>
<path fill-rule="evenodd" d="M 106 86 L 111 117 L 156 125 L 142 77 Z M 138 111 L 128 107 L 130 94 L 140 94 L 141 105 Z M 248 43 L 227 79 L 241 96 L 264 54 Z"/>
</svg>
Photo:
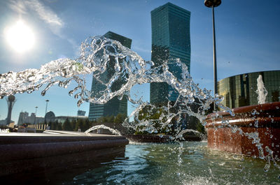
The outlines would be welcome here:
<svg viewBox="0 0 280 185">
<path fill-rule="evenodd" d="M 280 101 L 280 71 L 260 71 L 226 77 L 218 82 L 218 94 L 224 97 L 222 103 L 228 108 L 238 108 L 258 104 L 256 93 L 257 78 L 262 75 L 262 81 L 267 89 L 265 102 Z"/>
</svg>

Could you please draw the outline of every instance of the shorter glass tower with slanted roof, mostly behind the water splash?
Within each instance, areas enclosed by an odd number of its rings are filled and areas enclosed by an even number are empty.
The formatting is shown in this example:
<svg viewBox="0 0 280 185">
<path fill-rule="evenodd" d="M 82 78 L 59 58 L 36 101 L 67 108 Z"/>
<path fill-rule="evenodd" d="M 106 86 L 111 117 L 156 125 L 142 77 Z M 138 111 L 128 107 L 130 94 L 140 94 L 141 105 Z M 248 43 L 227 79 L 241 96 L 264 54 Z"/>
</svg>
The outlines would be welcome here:
<svg viewBox="0 0 280 185">
<path fill-rule="evenodd" d="M 115 34 L 111 31 L 107 32 L 104 36 L 106 38 L 118 40 L 125 47 L 131 47 L 132 39 L 130 38 L 120 36 L 119 34 Z M 109 63 L 106 66 L 106 72 L 100 76 L 100 80 L 102 80 L 102 82 L 108 82 L 108 80 L 113 76 L 114 64 L 113 58 L 110 58 Z M 116 89 L 120 89 L 122 84 L 123 81 L 118 79 L 117 82 L 115 82 L 111 87 L 111 90 L 116 91 Z M 92 78 L 92 93 L 94 96 L 102 96 L 100 92 L 105 88 L 106 87 L 104 84 L 97 81 L 94 77 Z M 119 100 L 118 97 L 114 97 L 105 104 L 90 103 L 90 112 L 88 114 L 88 118 L 90 120 L 96 120 L 99 117 L 106 117 L 107 115 L 116 116 L 117 114 L 125 114 L 125 116 L 127 116 L 127 98 L 125 96 L 122 100 Z"/>
</svg>

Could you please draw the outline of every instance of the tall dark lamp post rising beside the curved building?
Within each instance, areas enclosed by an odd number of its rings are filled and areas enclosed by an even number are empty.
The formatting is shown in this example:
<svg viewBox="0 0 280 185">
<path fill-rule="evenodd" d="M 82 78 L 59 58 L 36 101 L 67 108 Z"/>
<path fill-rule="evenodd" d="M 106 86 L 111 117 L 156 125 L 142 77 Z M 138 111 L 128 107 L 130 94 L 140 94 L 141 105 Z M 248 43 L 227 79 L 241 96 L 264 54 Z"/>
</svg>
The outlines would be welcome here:
<svg viewBox="0 0 280 185">
<path fill-rule="evenodd" d="M 217 87 L 217 61 L 216 61 L 216 35 L 215 35 L 215 17 L 214 17 L 214 7 L 219 6 L 222 3 L 221 0 L 204 0 L 204 5 L 212 8 L 212 22 L 213 22 L 213 57 L 214 57 L 214 96 L 218 94 Z M 216 105 L 214 103 L 214 110 L 216 110 Z"/>
</svg>

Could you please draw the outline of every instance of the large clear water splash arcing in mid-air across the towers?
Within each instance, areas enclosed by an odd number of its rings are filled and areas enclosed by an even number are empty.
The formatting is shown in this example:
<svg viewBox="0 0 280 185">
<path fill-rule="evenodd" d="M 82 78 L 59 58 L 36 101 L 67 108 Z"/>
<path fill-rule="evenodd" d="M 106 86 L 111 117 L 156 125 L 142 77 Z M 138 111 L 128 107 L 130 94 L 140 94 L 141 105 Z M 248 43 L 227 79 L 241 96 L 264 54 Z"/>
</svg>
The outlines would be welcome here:
<svg viewBox="0 0 280 185">
<path fill-rule="evenodd" d="M 180 66 L 181 74 L 177 78 L 169 71 L 169 64 Z M 113 70 L 112 70 L 113 68 Z M 103 84 L 102 91 L 94 92 L 86 88 L 85 75 L 92 74 L 94 79 Z M 104 78 L 104 76 L 106 76 Z M 183 114 L 189 114 L 200 119 L 205 124 L 205 111 L 212 103 L 216 103 L 222 110 L 234 114 L 230 108 L 221 104 L 223 98 L 216 95 L 211 96 L 211 91 L 200 89 L 193 82 L 188 67 L 179 59 L 162 61 L 162 65 L 155 66 L 153 61 L 144 61 L 136 52 L 124 47 L 116 40 L 103 36 L 87 38 L 80 46 L 80 57 L 78 59 L 57 59 L 41 66 L 39 69 L 27 69 L 18 73 L 8 72 L 0 75 L 0 97 L 17 93 L 31 93 L 38 90 L 43 84 L 47 84 L 45 92 L 55 84 L 59 87 L 68 87 L 71 82 L 76 82 L 76 87 L 69 91 L 69 95 L 79 98 L 77 105 L 83 102 L 103 104 L 113 97 L 127 98 L 137 106 L 130 117 L 134 117 L 133 124 L 129 119 L 125 121 L 127 127 L 137 127 L 141 130 L 148 130 L 150 133 L 158 129 L 171 129 L 172 120 L 176 119 L 179 124 Z M 121 84 L 120 84 L 121 82 Z M 138 119 L 139 112 L 145 107 L 150 112 L 158 111 L 159 108 L 151 103 L 143 102 L 141 98 L 133 99 L 130 96 L 130 89 L 135 84 L 151 82 L 166 82 L 171 85 L 179 96 L 175 102 L 168 102 L 163 105 L 158 121 Z M 195 101 L 197 100 L 197 101 Z M 197 110 L 191 110 L 192 103 L 197 104 Z M 176 111 L 174 111 L 176 110 Z M 160 127 L 158 126 L 160 125 Z M 177 129 L 178 133 L 180 129 Z"/>
</svg>

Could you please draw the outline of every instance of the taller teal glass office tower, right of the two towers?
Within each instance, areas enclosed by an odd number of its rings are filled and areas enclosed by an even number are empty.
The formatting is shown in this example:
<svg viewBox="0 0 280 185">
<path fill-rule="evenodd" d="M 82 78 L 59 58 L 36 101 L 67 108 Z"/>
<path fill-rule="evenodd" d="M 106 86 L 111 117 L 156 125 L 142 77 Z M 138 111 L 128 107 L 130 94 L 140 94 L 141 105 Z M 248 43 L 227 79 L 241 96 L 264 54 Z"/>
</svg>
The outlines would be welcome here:
<svg viewBox="0 0 280 185">
<path fill-rule="evenodd" d="M 159 66 L 169 61 L 169 71 L 180 79 L 181 69 L 174 63 L 180 59 L 190 71 L 190 12 L 172 3 L 151 11 L 152 61 Z M 168 96 L 170 95 L 170 96 Z M 176 101 L 178 94 L 165 82 L 151 83 L 151 103 Z"/>
</svg>

